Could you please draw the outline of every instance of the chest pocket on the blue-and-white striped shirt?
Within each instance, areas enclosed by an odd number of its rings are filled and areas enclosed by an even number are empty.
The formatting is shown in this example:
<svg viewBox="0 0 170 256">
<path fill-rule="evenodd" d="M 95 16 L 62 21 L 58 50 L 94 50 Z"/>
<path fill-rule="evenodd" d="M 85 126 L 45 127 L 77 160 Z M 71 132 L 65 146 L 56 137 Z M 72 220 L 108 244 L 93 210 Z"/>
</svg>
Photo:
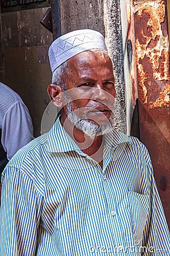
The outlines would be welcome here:
<svg viewBox="0 0 170 256">
<path fill-rule="evenodd" d="M 148 214 L 148 194 L 128 191 L 131 228 L 137 245 L 142 244 L 143 230 Z"/>
</svg>

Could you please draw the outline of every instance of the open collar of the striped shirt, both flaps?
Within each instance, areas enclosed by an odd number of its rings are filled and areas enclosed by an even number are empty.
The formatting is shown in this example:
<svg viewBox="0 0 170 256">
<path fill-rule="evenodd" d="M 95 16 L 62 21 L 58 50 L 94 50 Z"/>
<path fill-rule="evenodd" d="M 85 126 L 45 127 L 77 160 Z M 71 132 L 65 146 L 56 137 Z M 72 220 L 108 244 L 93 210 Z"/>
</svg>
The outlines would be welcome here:
<svg viewBox="0 0 170 256">
<path fill-rule="evenodd" d="M 114 149 L 118 144 L 131 142 L 131 138 L 113 129 L 110 133 L 104 135 L 104 141 L 107 147 Z M 69 151 L 76 151 L 81 155 L 86 155 L 63 129 L 58 117 L 52 129 L 48 132 L 48 152 Z"/>
</svg>

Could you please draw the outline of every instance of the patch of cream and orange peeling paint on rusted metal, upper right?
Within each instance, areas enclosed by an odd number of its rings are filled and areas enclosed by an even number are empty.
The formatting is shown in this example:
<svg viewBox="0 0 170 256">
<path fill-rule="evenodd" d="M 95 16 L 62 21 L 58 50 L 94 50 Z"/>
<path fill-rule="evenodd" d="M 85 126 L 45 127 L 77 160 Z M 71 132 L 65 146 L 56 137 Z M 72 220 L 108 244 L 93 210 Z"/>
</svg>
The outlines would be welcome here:
<svg viewBox="0 0 170 256">
<path fill-rule="evenodd" d="M 135 1 L 133 11 L 139 95 L 148 108 L 162 108 L 170 104 L 169 39 L 162 26 L 164 1 Z"/>
</svg>

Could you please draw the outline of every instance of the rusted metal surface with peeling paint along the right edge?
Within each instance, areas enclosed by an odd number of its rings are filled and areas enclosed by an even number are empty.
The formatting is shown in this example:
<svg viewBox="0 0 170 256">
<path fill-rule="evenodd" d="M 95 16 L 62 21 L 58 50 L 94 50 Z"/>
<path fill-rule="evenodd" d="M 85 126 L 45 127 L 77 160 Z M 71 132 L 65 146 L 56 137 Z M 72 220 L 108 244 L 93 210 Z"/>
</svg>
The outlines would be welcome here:
<svg viewBox="0 0 170 256">
<path fill-rule="evenodd" d="M 170 83 L 166 1 L 134 1 L 139 134 L 147 146 L 170 227 Z"/>
</svg>

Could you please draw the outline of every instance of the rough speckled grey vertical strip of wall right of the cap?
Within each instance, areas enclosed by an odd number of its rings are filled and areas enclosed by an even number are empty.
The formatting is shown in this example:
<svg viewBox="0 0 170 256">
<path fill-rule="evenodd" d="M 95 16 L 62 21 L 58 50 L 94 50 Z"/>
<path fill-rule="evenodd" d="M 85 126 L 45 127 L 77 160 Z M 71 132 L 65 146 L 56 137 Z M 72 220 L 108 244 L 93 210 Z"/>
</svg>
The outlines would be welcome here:
<svg viewBox="0 0 170 256">
<path fill-rule="evenodd" d="M 113 62 L 116 109 L 114 110 L 114 124 L 117 130 L 123 133 L 126 129 L 126 106 L 125 106 L 125 80 L 124 80 L 124 54 L 121 28 L 121 3 L 117 0 L 104 1 L 104 25 L 105 40 L 109 55 Z"/>
</svg>

